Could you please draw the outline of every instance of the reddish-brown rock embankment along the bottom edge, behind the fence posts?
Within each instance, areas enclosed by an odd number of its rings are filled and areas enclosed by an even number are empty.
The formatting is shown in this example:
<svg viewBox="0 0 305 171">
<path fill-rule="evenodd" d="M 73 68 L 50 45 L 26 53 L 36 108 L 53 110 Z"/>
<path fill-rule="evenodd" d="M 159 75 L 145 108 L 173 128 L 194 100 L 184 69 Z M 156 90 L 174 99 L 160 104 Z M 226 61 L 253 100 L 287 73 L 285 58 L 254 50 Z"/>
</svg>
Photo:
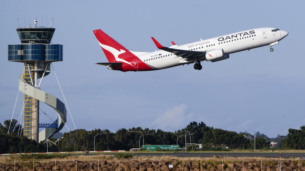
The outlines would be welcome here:
<svg viewBox="0 0 305 171">
<path fill-rule="evenodd" d="M 12 160 L 10 160 L 12 161 Z M 262 165 L 261 165 L 262 163 Z M 172 166 L 171 166 L 172 165 Z M 34 166 L 34 169 L 33 169 Z M 282 161 L 282 171 L 293 170 L 293 171 L 305 171 L 305 161 L 304 160 L 283 160 Z M 124 160 L 124 161 L 107 161 L 107 160 L 96 160 L 96 161 L 49 161 L 49 162 L 6 162 L 0 164 L 0 171 L 4 170 L 34 170 L 34 171 L 159 171 L 159 161 L 150 160 Z M 251 162 L 242 161 L 213 161 L 206 160 L 201 162 L 198 161 L 181 161 L 181 160 L 171 160 L 171 161 L 161 161 L 160 160 L 160 171 L 207 171 L 207 170 L 224 170 L 224 171 L 273 171 L 278 169 L 278 161 L 276 160 L 253 160 Z"/>
</svg>

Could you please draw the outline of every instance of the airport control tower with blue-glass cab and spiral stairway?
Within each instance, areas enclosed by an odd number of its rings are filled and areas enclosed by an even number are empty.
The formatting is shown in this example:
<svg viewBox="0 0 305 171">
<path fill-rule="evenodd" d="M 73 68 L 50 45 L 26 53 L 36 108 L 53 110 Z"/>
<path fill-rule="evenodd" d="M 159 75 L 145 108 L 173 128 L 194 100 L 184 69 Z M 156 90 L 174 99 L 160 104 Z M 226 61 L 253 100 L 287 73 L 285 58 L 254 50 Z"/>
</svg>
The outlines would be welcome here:
<svg viewBox="0 0 305 171">
<path fill-rule="evenodd" d="M 42 79 L 50 73 L 52 62 L 63 61 L 63 45 L 50 44 L 55 28 L 17 28 L 21 44 L 8 45 L 8 60 L 24 63 L 19 76 L 19 90 L 24 93 L 23 135 L 37 142 L 61 130 L 66 123 L 66 107 L 58 98 L 40 90 Z M 40 79 L 40 80 L 38 80 Z M 51 106 L 59 114 L 52 124 L 39 123 L 39 102 Z M 45 129 L 39 132 L 39 127 Z"/>
</svg>

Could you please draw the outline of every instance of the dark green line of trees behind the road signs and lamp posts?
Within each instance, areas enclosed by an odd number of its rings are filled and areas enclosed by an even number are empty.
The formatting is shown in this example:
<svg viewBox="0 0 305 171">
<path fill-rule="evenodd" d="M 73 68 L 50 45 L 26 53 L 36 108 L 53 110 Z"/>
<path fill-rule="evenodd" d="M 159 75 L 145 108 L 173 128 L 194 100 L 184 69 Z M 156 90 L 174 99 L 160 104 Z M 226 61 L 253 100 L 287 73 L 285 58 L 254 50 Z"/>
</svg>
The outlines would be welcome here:
<svg viewBox="0 0 305 171">
<path fill-rule="evenodd" d="M 46 152 L 46 145 L 43 144 L 43 142 L 37 143 L 34 140 L 27 139 L 23 135 L 17 134 L 18 132 L 23 132 L 23 130 L 19 124 L 16 124 L 16 120 L 12 120 L 12 123 L 14 124 L 11 124 L 15 129 L 11 126 L 11 129 L 8 133 L 9 123 L 10 120 L 5 120 L 4 125 L 0 123 L 0 143 L 2 144 L 0 146 L 1 154 Z M 289 129 L 289 134 L 287 138 L 285 139 L 285 141 L 282 140 L 283 147 L 293 149 L 304 149 L 304 128 L 305 126 L 301 127 L 301 130 Z M 56 145 L 49 145 L 48 151 L 93 151 L 94 147 L 95 151 L 129 150 L 131 148 L 139 148 L 139 145 L 143 145 L 143 136 L 140 139 L 142 133 L 149 134 L 144 135 L 145 145 L 175 145 L 178 142 L 178 145 L 180 145 L 180 147 L 184 147 L 185 138 L 187 143 L 190 142 L 190 136 L 186 131 L 192 134 L 192 143 L 202 144 L 202 149 L 196 150 L 212 150 L 215 147 L 228 147 L 229 149 L 254 149 L 254 139 L 249 138 L 249 135 L 254 135 L 213 128 L 206 126 L 206 124 L 204 124 L 203 122 L 197 123 L 194 121 L 188 124 L 185 128 L 175 131 L 179 133 L 163 131 L 160 129 L 142 129 L 141 127 L 133 127 L 129 129 L 121 128 L 115 133 L 110 133 L 110 131 L 107 129 L 94 129 L 91 131 L 87 131 L 85 129 L 77 129 L 74 131 L 63 133 L 61 137 L 59 137 L 59 142 Z M 185 133 L 187 133 L 187 136 L 185 136 Z M 259 133 L 256 135 L 258 135 L 256 137 L 255 142 L 256 149 L 268 149 L 270 147 L 270 139 L 266 138 L 267 136 L 264 134 Z M 49 139 L 53 142 L 57 140 L 57 138 Z"/>
</svg>

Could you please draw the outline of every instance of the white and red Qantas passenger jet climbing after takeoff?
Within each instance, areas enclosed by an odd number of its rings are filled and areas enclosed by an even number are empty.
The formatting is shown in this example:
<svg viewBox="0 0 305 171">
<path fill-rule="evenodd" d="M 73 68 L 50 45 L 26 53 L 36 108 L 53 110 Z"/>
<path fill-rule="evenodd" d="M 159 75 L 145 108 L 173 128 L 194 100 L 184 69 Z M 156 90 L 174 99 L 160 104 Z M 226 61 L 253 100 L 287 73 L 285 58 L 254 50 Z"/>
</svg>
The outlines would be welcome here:
<svg viewBox="0 0 305 171">
<path fill-rule="evenodd" d="M 201 70 L 201 61 L 217 62 L 229 58 L 229 54 L 250 50 L 257 47 L 273 46 L 288 35 L 287 31 L 273 27 L 264 27 L 240 31 L 206 40 L 200 39 L 189 44 L 170 47 L 162 46 L 151 37 L 160 50 L 153 52 L 136 52 L 126 49 L 102 30 L 94 30 L 108 62 L 96 63 L 109 70 L 118 71 L 152 71 L 178 65 L 194 64 L 194 69 Z"/>
</svg>

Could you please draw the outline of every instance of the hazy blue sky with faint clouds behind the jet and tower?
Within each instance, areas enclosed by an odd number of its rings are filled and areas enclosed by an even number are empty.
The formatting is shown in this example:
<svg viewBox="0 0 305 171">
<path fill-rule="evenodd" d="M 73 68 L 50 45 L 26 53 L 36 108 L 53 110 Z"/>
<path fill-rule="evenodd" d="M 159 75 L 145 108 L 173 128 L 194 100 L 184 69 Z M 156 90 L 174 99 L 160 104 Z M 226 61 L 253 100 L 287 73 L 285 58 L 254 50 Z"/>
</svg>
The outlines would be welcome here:
<svg viewBox="0 0 305 171">
<path fill-rule="evenodd" d="M 7 45 L 20 44 L 16 33 L 37 18 L 49 26 L 52 42 L 63 44 L 63 61 L 54 62 L 77 128 L 116 131 L 149 127 L 175 131 L 189 122 L 236 132 L 286 135 L 305 123 L 304 1 L 1 1 L 0 108 L 12 117 L 22 63 L 7 61 Z M 24 22 L 25 17 L 25 22 Z M 43 20 L 43 23 L 42 23 Z M 276 27 L 289 35 L 269 47 L 231 54 L 219 62 L 150 72 L 110 71 L 92 30 L 102 29 L 132 51 L 154 51 L 150 37 L 162 45 L 194 41 L 259 27 Z M 55 75 L 41 89 L 63 101 Z M 22 108 L 19 94 L 14 118 Z M 55 111 L 41 103 L 54 119 Z M 68 127 L 74 126 L 68 115 Z M 51 123 L 40 114 L 41 123 Z M 285 116 L 285 117 L 284 117 Z M 68 131 L 66 127 L 63 131 Z"/>
</svg>

